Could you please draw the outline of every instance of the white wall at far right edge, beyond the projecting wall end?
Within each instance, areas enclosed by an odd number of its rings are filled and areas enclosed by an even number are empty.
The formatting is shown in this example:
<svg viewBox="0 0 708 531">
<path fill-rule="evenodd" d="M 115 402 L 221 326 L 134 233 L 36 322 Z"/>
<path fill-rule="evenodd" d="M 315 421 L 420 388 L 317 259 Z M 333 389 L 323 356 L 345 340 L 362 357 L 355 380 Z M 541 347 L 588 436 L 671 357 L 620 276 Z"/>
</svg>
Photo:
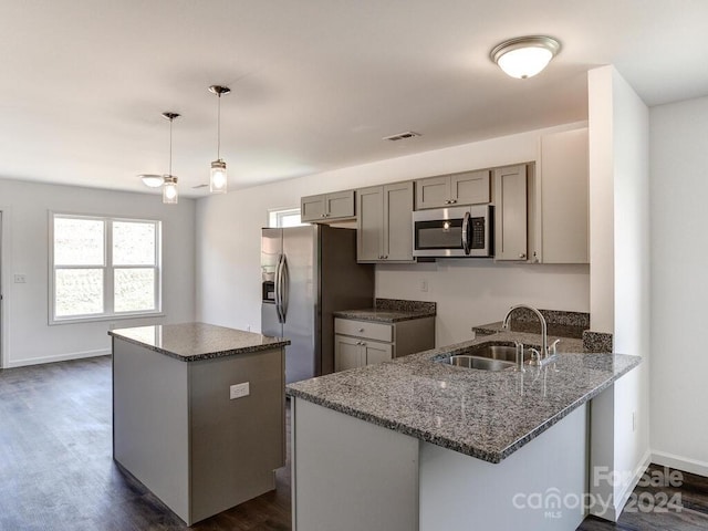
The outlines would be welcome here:
<svg viewBox="0 0 708 531">
<path fill-rule="evenodd" d="M 652 108 L 652 447 L 708 476 L 708 97 Z"/>
</svg>

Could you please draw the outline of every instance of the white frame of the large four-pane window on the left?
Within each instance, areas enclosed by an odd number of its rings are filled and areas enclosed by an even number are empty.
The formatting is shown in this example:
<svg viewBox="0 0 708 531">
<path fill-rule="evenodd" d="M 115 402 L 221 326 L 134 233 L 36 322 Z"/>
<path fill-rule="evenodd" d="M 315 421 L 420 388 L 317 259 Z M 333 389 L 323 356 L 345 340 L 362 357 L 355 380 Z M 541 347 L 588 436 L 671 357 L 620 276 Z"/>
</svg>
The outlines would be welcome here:
<svg viewBox="0 0 708 531">
<path fill-rule="evenodd" d="M 103 222 L 103 266 L 56 266 L 54 263 L 54 220 L 56 218 L 86 219 Z M 113 263 L 113 223 L 137 222 L 149 223 L 155 227 L 155 262 L 149 264 L 115 266 Z M 115 321 L 147 316 L 162 316 L 163 313 L 163 228 L 158 219 L 105 216 L 92 214 L 74 214 L 49 211 L 49 324 L 88 323 L 96 321 Z M 71 316 L 56 315 L 56 270 L 101 269 L 103 270 L 103 312 L 79 314 Z M 155 270 L 155 304 L 153 310 L 115 312 L 115 275 L 116 269 L 154 269 Z"/>
</svg>

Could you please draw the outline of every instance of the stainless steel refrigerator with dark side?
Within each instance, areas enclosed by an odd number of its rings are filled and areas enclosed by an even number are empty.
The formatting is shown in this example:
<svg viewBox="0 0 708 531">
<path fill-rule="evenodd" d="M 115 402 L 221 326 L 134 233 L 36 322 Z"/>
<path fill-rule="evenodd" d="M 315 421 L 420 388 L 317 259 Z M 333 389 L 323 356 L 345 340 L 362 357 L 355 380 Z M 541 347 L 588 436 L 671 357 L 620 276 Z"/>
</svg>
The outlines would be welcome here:
<svg viewBox="0 0 708 531">
<path fill-rule="evenodd" d="M 356 231 L 263 229 L 261 332 L 287 337 L 285 382 L 334 371 L 334 316 L 373 308 L 374 267 L 356 263 Z"/>
</svg>

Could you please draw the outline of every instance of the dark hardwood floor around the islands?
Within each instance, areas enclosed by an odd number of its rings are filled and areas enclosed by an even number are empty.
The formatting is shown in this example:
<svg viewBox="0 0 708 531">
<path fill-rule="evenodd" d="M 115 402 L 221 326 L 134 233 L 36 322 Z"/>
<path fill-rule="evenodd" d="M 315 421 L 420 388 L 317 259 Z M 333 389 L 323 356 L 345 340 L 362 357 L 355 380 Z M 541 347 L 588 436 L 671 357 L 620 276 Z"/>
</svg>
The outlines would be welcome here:
<svg viewBox="0 0 708 531">
<path fill-rule="evenodd" d="M 110 356 L 0 371 L 0 530 L 189 529 L 115 465 L 111 420 Z M 277 482 L 191 529 L 290 530 L 290 462 Z M 680 511 L 642 503 L 660 502 L 659 492 L 680 492 Z M 707 478 L 684 472 L 680 488 L 637 487 L 634 494 L 638 503 L 616 524 L 589 517 L 577 531 L 708 530 Z"/>
</svg>

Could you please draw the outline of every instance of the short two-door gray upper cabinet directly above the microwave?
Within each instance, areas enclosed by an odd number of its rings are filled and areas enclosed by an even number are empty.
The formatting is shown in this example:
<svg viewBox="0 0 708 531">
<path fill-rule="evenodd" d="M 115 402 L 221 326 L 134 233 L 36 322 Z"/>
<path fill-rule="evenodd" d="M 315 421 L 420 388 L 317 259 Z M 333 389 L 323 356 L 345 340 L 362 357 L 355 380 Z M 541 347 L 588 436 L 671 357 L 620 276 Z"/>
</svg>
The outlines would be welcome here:
<svg viewBox="0 0 708 531">
<path fill-rule="evenodd" d="M 490 201 L 488 169 L 428 177 L 415 181 L 416 210 Z"/>
</svg>

